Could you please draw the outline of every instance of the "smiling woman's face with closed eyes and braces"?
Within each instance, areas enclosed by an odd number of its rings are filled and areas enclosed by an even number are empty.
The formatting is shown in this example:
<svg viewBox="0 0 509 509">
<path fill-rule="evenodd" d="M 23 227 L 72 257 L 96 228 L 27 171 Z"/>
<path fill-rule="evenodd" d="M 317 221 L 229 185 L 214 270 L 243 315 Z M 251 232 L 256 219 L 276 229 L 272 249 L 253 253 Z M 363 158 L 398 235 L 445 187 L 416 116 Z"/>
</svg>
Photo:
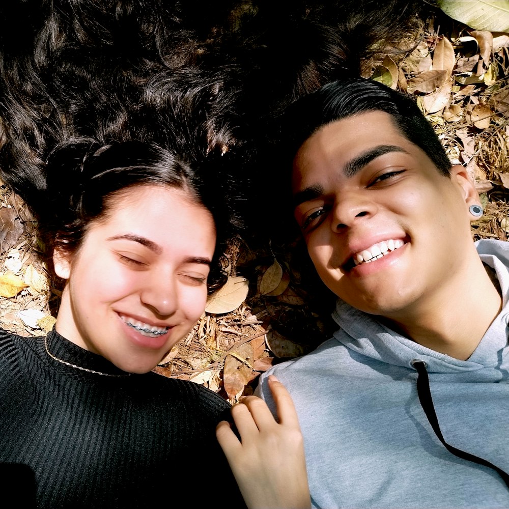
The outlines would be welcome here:
<svg viewBox="0 0 509 509">
<path fill-rule="evenodd" d="M 133 187 L 54 255 L 67 279 L 56 330 L 120 369 L 146 373 L 200 318 L 216 241 L 211 213 L 181 190 Z"/>
</svg>

